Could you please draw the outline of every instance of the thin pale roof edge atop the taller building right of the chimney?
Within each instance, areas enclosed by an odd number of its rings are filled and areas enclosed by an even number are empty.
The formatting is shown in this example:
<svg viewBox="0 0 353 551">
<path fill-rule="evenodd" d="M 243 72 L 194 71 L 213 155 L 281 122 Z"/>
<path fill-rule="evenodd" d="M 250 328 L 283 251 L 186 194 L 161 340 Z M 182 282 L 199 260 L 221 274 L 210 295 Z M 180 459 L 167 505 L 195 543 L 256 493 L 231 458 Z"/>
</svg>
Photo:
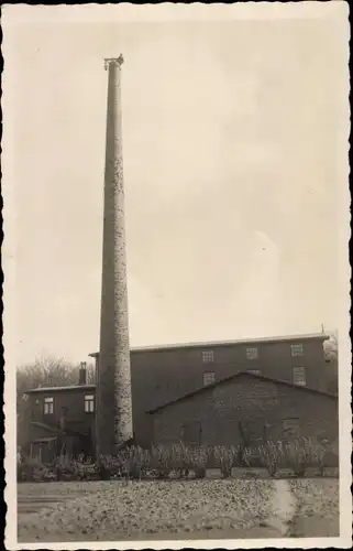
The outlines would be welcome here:
<svg viewBox="0 0 353 551">
<path fill-rule="evenodd" d="M 304 335 L 287 335 L 287 336 L 276 336 L 276 337 L 257 337 L 257 338 L 240 338 L 235 341 L 211 341 L 211 342 L 199 342 L 199 343 L 176 343 L 168 345 L 152 345 L 152 346 L 137 346 L 131 347 L 131 353 L 140 352 L 157 352 L 157 350 L 173 350 L 178 348 L 206 348 L 216 346 L 232 346 L 242 344 L 255 344 L 255 343 L 280 343 L 280 342 L 294 342 L 294 341 L 308 341 L 308 339 L 322 339 L 327 341 L 329 335 L 326 333 L 307 333 Z M 95 358 L 99 356 L 98 352 L 89 354 L 90 357 Z"/>
</svg>

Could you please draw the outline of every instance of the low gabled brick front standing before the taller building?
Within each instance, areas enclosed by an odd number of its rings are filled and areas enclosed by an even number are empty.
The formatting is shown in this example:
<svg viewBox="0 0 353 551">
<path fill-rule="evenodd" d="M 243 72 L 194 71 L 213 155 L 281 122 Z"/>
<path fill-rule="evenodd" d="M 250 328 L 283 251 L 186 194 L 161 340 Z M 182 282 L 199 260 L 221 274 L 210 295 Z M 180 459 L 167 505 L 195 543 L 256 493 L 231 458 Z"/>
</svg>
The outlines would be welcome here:
<svg viewBox="0 0 353 551">
<path fill-rule="evenodd" d="M 284 421 L 296 418 L 301 435 L 326 436 L 338 446 L 335 399 L 246 375 L 176 402 L 152 417 L 154 443 L 179 440 L 183 425 L 199 423 L 202 443 L 238 445 L 243 442 L 240 421 L 254 439 L 261 437 L 267 425 L 267 436 L 279 440 L 285 435 Z"/>
</svg>

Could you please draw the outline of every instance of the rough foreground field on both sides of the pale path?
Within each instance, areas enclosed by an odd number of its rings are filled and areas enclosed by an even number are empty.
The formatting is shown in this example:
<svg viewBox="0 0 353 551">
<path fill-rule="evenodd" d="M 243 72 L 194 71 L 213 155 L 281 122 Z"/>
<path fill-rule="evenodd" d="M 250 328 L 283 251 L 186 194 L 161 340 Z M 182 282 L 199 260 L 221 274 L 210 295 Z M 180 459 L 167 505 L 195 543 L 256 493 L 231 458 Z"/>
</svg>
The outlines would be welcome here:
<svg viewBox="0 0 353 551">
<path fill-rule="evenodd" d="M 19 541 L 280 537 L 266 526 L 285 508 L 280 484 L 295 498 L 294 537 L 338 536 L 334 479 L 110 480 L 20 484 Z"/>
</svg>

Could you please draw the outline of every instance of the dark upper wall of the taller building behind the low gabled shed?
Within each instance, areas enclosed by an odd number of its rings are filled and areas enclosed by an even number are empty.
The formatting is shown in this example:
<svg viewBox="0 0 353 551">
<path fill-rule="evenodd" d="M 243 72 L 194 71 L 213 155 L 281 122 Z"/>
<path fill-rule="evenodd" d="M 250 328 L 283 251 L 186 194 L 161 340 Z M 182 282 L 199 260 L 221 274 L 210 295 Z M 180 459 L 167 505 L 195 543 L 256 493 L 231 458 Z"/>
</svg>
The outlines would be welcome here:
<svg viewBox="0 0 353 551">
<path fill-rule="evenodd" d="M 214 371 L 216 380 L 221 380 L 246 369 L 258 369 L 264 376 L 291 381 L 293 368 L 304 367 L 307 386 L 326 390 L 322 338 L 302 339 L 301 343 L 304 356 L 299 357 L 291 356 L 290 341 L 132 350 L 132 408 L 136 440 L 147 446 L 152 439 L 152 425 L 145 411 L 202 387 L 205 371 Z M 256 359 L 247 359 L 247 347 L 257 347 Z M 203 350 L 213 350 L 213 361 L 202 361 Z"/>
</svg>

